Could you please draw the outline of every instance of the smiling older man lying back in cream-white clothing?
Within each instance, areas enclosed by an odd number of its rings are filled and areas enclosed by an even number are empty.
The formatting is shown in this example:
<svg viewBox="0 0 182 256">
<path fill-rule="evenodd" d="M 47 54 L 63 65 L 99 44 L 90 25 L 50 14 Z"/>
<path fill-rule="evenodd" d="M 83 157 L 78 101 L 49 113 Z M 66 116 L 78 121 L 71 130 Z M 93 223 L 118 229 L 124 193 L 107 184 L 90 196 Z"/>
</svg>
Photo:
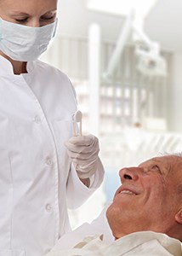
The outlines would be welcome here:
<svg viewBox="0 0 182 256">
<path fill-rule="evenodd" d="M 88 236 L 72 248 L 60 242 L 48 255 L 182 255 L 182 155 L 152 158 L 122 168 L 119 175 L 122 185 L 106 211 L 115 241 L 105 244 L 100 236 Z"/>
</svg>

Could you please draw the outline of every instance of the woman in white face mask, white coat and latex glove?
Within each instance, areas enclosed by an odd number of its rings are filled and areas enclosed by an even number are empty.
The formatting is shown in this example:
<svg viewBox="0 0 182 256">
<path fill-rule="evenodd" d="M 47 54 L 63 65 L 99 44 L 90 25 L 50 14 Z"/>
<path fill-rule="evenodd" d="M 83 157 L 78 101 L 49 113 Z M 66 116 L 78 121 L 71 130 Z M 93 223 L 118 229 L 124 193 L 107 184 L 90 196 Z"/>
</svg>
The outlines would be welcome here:
<svg viewBox="0 0 182 256">
<path fill-rule="evenodd" d="M 37 58 L 57 0 L 0 0 L 0 256 L 41 256 L 103 180 L 98 139 L 71 137 L 75 90 Z"/>
</svg>

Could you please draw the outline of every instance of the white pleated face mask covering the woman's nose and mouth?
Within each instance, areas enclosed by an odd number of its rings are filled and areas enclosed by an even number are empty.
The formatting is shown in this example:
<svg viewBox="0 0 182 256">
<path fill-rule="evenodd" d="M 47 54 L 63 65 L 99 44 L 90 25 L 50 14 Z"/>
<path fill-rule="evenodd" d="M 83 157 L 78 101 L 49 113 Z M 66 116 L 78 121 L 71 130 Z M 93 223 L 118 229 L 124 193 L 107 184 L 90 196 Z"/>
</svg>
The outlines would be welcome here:
<svg viewBox="0 0 182 256">
<path fill-rule="evenodd" d="M 46 26 L 23 26 L 0 18 L 0 50 L 14 61 L 35 61 L 54 38 L 57 19 Z"/>
</svg>

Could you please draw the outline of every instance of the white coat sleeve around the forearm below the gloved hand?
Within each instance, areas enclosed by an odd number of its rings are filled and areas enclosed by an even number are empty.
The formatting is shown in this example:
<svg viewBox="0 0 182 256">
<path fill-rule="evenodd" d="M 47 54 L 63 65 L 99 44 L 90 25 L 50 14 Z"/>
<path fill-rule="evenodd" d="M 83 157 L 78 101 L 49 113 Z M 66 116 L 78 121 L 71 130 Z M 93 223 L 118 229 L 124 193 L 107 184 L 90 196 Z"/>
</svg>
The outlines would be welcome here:
<svg viewBox="0 0 182 256">
<path fill-rule="evenodd" d="M 104 178 L 104 167 L 99 159 L 98 170 L 94 174 L 94 180 L 90 188 L 87 188 L 77 177 L 77 172 L 73 164 L 71 164 L 71 172 L 67 182 L 67 206 L 68 208 L 75 209 L 80 207 L 88 197 L 94 193 L 96 189 L 100 187 L 100 184 Z"/>
</svg>

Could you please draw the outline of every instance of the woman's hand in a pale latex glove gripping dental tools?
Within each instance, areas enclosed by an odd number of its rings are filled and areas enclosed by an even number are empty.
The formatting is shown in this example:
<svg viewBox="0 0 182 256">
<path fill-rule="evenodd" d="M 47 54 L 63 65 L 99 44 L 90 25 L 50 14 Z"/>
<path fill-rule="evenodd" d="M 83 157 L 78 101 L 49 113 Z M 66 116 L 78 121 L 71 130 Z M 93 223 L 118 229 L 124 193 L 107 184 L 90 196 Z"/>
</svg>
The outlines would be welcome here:
<svg viewBox="0 0 182 256">
<path fill-rule="evenodd" d="M 66 143 L 68 155 L 80 178 L 91 177 L 97 170 L 100 151 L 99 141 L 94 135 L 71 137 Z"/>
</svg>

